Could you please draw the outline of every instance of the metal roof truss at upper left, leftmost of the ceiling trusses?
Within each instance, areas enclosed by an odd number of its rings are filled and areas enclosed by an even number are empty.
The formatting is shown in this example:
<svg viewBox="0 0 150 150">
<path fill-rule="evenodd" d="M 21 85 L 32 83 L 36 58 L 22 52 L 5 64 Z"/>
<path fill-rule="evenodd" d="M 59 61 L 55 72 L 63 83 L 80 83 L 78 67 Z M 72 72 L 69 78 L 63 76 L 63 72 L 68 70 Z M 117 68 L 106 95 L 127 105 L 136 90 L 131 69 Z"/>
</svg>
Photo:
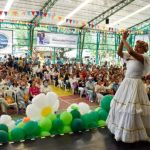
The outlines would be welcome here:
<svg viewBox="0 0 150 150">
<path fill-rule="evenodd" d="M 48 0 L 44 6 L 39 10 L 39 13 L 48 13 L 48 11 L 55 5 L 58 0 Z M 30 22 L 39 23 L 42 20 L 42 15 L 37 14 Z"/>
</svg>

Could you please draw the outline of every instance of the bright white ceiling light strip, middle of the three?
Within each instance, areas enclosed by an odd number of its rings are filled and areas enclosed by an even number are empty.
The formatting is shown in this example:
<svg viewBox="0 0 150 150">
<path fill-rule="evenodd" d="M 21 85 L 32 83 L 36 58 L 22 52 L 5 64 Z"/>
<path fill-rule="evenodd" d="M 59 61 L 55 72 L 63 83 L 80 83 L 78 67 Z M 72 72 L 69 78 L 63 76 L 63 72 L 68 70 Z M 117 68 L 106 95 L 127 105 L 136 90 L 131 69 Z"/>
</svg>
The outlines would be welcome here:
<svg viewBox="0 0 150 150">
<path fill-rule="evenodd" d="M 92 1 L 92 0 L 84 0 L 83 3 L 81 3 L 76 9 L 74 9 L 70 14 L 68 14 L 64 18 L 64 20 L 58 22 L 57 25 L 59 25 L 59 26 L 62 25 L 66 21 L 66 19 L 70 19 L 74 14 L 76 14 L 79 10 L 81 10 L 84 6 L 86 6 L 90 1 Z"/>
</svg>

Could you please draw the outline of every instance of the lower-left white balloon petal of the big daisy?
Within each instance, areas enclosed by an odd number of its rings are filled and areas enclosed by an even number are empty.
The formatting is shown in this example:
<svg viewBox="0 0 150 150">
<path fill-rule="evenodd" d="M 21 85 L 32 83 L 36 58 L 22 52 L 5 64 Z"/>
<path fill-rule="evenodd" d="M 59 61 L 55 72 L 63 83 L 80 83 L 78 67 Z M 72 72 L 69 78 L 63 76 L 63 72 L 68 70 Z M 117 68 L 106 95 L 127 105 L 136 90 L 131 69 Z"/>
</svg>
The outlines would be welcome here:
<svg viewBox="0 0 150 150">
<path fill-rule="evenodd" d="M 36 108 L 34 104 L 27 106 L 26 115 L 33 121 L 38 121 L 41 118 L 40 109 Z"/>
</svg>

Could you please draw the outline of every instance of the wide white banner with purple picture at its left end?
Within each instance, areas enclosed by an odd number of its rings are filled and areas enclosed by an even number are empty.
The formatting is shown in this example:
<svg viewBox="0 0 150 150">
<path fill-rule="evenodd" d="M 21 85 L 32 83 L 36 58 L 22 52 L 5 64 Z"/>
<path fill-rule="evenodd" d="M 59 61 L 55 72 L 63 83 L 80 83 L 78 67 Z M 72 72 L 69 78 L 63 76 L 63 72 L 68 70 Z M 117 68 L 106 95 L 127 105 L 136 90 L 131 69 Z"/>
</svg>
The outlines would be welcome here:
<svg viewBox="0 0 150 150">
<path fill-rule="evenodd" d="M 77 35 L 57 34 L 48 32 L 37 33 L 37 46 L 77 48 Z"/>
</svg>

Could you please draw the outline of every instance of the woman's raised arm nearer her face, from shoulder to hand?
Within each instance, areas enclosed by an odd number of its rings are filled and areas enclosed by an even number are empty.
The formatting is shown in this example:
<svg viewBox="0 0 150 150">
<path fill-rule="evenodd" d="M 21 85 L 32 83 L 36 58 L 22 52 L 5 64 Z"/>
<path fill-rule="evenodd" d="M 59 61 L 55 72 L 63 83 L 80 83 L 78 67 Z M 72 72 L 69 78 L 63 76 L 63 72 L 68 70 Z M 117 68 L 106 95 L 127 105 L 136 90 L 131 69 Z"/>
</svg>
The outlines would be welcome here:
<svg viewBox="0 0 150 150">
<path fill-rule="evenodd" d="M 124 46 L 126 47 L 128 53 L 133 56 L 135 59 L 137 59 L 138 61 L 140 61 L 142 64 L 144 64 L 144 57 L 142 54 L 137 53 L 136 51 L 133 50 L 133 48 L 128 44 L 128 42 L 126 41 L 126 36 L 128 36 L 128 31 L 125 31 L 122 37 L 122 42 L 124 44 Z"/>
</svg>

